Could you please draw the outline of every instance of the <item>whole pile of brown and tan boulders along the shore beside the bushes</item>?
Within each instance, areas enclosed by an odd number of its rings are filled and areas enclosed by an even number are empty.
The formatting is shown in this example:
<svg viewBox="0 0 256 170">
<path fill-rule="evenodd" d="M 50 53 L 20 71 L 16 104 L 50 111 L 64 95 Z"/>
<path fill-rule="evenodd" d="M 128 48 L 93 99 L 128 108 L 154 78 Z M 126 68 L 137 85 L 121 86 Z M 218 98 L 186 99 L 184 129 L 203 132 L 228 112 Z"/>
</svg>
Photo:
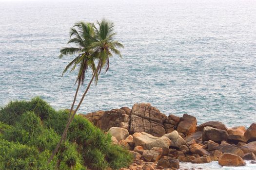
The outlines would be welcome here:
<svg viewBox="0 0 256 170">
<path fill-rule="evenodd" d="M 81 115 L 81 114 L 79 114 Z M 220 121 L 197 126 L 196 117 L 168 117 L 150 103 L 81 115 L 129 150 L 134 162 L 123 170 L 179 169 L 179 161 L 244 166 L 256 160 L 256 123 L 227 128 Z M 244 159 L 244 160 L 243 160 Z"/>
</svg>

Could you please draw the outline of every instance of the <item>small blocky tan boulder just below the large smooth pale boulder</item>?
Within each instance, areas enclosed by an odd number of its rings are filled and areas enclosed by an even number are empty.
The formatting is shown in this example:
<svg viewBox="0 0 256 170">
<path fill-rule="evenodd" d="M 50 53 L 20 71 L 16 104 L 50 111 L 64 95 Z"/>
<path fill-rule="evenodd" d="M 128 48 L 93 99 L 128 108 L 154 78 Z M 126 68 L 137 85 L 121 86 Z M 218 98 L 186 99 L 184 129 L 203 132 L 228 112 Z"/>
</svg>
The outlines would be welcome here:
<svg viewBox="0 0 256 170">
<path fill-rule="evenodd" d="M 151 150 L 145 150 L 142 154 L 142 159 L 148 162 L 158 161 L 162 155 L 163 149 L 154 147 Z"/>
</svg>

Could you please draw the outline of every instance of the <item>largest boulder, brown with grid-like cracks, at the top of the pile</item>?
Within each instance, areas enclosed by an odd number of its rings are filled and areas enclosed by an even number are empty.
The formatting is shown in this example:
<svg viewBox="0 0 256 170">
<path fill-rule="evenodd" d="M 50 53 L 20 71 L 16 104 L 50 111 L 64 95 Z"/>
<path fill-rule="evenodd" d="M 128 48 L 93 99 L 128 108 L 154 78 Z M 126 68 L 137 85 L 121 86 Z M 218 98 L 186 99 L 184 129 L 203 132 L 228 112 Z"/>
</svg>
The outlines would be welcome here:
<svg viewBox="0 0 256 170">
<path fill-rule="evenodd" d="M 160 113 L 150 103 L 136 103 L 131 110 L 129 132 L 130 134 L 146 132 L 157 137 L 163 136 L 165 134 L 163 121 L 166 118 L 166 115 Z"/>
</svg>

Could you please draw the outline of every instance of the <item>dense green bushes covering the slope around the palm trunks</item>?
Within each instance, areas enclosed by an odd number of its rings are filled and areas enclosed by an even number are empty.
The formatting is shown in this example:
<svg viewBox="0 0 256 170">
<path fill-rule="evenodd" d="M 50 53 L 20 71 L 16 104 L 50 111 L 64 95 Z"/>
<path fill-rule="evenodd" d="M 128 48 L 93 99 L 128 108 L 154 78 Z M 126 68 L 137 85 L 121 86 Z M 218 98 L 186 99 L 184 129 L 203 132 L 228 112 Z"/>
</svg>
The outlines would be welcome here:
<svg viewBox="0 0 256 170">
<path fill-rule="evenodd" d="M 76 116 L 54 160 L 68 119 L 67 110 L 54 110 L 40 98 L 10 102 L 0 109 L 0 170 L 104 170 L 127 167 L 131 155 L 111 142 L 88 120 Z"/>
</svg>

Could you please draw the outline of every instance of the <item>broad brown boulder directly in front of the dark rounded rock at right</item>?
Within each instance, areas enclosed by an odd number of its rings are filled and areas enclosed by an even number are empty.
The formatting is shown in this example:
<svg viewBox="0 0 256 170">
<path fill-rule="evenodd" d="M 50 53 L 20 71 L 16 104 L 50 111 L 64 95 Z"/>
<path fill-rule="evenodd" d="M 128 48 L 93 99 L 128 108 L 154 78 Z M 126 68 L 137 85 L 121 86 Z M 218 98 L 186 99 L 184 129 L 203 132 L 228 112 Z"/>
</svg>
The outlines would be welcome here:
<svg viewBox="0 0 256 170">
<path fill-rule="evenodd" d="M 228 133 L 225 130 L 206 126 L 203 128 L 202 140 L 212 140 L 215 142 L 221 142 L 228 139 Z"/>
</svg>

